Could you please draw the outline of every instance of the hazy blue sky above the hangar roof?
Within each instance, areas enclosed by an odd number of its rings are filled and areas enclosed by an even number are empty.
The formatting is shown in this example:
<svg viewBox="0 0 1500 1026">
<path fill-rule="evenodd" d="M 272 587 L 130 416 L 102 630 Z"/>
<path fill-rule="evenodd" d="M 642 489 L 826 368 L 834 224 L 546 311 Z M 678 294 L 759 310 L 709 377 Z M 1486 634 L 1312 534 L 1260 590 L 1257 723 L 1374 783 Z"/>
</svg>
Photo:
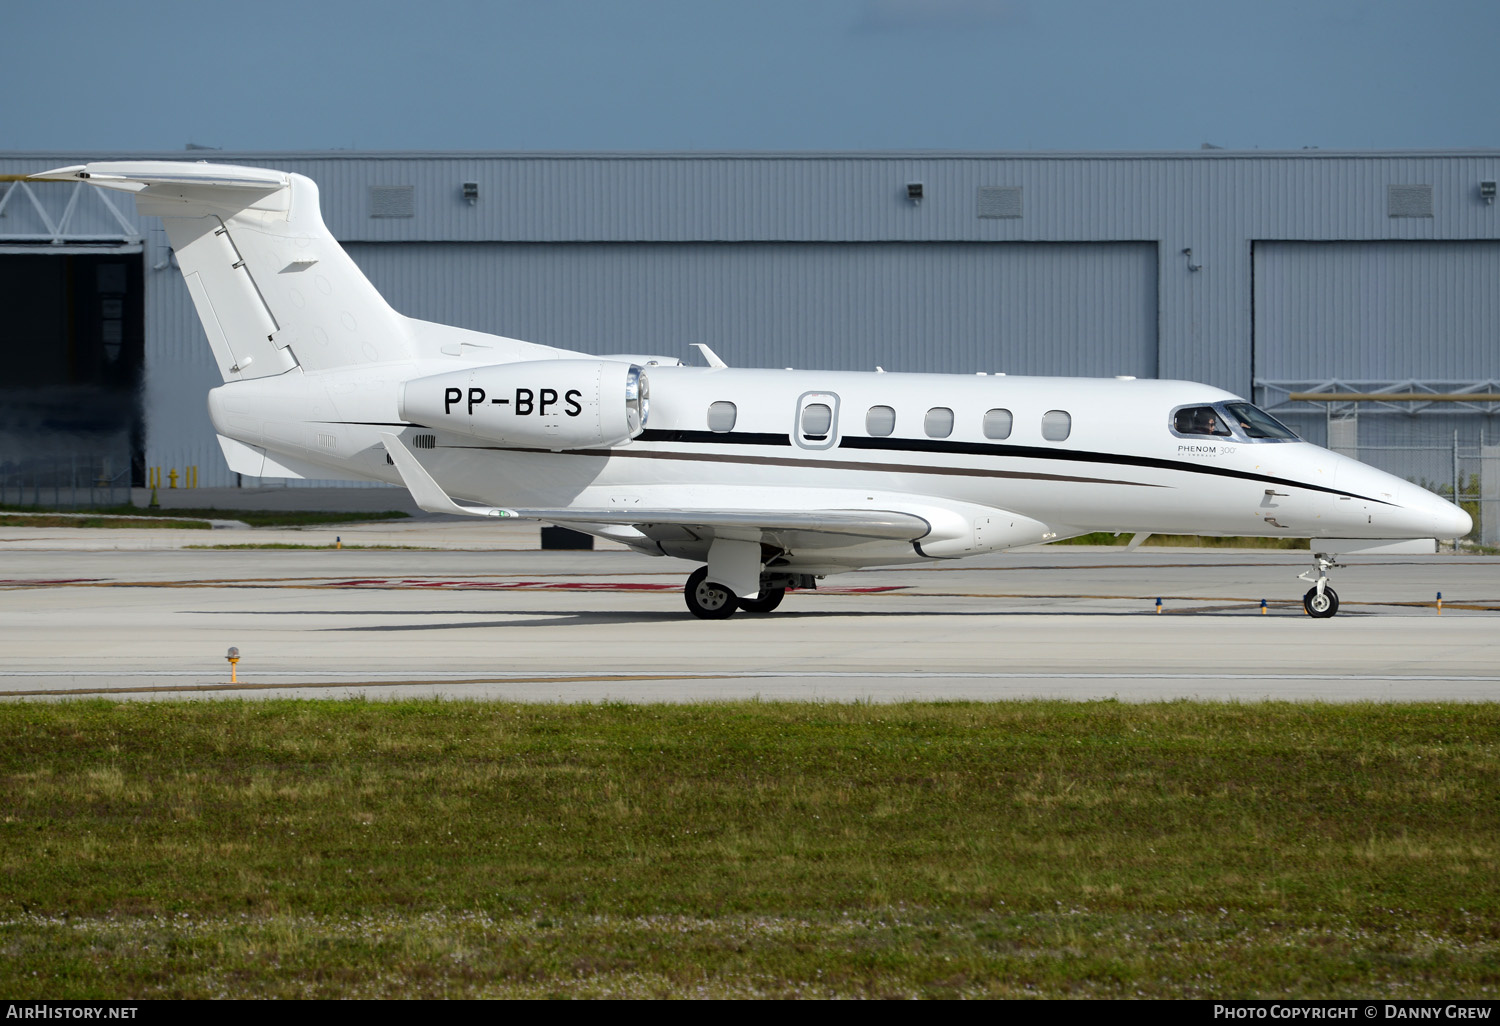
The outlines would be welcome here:
<svg viewBox="0 0 1500 1026">
<path fill-rule="evenodd" d="M 1500 0 L 0 0 L 0 148 L 1500 147 Z"/>
</svg>

